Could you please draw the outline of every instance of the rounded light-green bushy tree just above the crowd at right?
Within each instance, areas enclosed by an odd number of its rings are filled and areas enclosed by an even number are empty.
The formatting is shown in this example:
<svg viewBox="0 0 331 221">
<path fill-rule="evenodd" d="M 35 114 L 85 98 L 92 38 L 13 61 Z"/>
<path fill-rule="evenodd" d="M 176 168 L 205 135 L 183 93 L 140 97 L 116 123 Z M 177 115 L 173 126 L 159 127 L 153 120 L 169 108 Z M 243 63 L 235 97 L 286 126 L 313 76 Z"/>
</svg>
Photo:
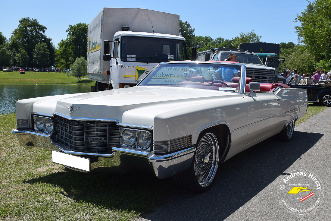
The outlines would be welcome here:
<svg viewBox="0 0 331 221">
<path fill-rule="evenodd" d="M 281 63 L 279 70 L 290 68 L 297 69 L 300 73 L 312 73 L 316 70 L 315 56 L 304 45 L 296 45 L 290 54 L 281 54 L 285 62 Z"/>
</svg>

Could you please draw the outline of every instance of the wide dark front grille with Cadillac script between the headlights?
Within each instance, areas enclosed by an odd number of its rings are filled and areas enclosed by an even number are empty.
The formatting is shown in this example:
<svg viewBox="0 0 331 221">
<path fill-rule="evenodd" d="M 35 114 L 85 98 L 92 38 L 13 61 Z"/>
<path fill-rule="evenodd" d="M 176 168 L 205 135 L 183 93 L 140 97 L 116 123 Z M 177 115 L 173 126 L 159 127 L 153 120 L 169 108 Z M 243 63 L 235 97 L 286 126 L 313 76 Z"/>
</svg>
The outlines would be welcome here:
<svg viewBox="0 0 331 221">
<path fill-rule="evenodd" d="M 57 142 L 77 152 L 113 153 L 119 147 L 119 126 L 114 121 L 78 121 L 56 117 Z"/>
</svg>

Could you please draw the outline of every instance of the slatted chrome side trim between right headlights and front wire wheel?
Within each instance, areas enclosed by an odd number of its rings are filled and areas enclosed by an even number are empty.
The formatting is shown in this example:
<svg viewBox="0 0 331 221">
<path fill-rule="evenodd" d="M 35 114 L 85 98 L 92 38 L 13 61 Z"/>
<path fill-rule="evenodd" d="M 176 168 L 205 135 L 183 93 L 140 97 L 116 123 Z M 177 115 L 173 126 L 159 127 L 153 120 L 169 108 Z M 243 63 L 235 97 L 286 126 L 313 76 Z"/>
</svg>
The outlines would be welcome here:
<svg viewBox="0 0 331 221">
<path fill-rule="evenodd" d="M 171 140 L 154 141 L 155 153 L 166 153 L 192 145 L 192 135 Z"/>
</svg>

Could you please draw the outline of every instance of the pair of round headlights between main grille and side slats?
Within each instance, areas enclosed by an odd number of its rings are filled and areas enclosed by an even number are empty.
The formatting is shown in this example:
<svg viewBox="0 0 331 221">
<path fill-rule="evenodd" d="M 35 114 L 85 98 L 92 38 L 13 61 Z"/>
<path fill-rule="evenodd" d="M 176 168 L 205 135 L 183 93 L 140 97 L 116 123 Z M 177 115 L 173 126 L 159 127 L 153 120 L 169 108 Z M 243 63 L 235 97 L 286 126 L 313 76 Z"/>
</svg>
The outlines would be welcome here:
<svg viewBox="0 0 331 221">
<path fill-rule="evenodd" d="M 151 135 L 146 131 L 121 129 L 122 143 L 125 146 L 133 147 L 135 144 L 142 149 L 148 149 L 151 146 Z"/>
</svg>

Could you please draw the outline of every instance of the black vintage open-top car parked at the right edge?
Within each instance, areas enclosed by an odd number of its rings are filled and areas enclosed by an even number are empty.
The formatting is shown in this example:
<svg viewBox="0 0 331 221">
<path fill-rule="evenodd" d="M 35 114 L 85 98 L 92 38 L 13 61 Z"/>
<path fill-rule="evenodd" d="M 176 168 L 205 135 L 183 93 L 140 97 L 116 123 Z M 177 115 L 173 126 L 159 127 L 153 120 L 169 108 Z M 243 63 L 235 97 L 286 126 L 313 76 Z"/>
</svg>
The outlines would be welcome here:
<svg viewBox="0 0 331 221">
<path fill-rule="evenodd" d="M 294 78 L 288 75 L 286 82 L 292 88 L 307 89 L 308 102 L 331 107 L 331 80 L 323 80 L 313 84 L 311 78 Z"/>
</svg>

